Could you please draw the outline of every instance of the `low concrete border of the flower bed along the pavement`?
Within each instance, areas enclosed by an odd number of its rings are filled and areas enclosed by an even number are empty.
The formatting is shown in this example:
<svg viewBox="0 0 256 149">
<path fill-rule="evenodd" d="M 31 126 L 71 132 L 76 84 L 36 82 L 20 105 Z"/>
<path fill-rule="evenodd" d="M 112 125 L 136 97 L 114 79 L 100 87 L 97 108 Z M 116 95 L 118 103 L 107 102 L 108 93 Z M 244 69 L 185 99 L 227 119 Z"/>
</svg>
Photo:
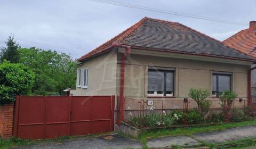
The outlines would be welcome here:
<svg viewBox="0 0 256 149">
<path fill-rule="evenodd" d="M 206 126 L 214 126 L 214 125 L 221 125 L 222 123 L 205 123 L 205 124 L 198 124 L 198 125 L 177 125 L 177 126 L 170 126 L 170 127 L 153 127 L 153 128 L 135 128 L 128 123 L 120 122 L 119 131 L 122 133 L 132 136 L 132 137 L 139 137 L 142 133 L 146 131 L 157 131 L 162 129 L 176 129 L 176 128 L 189 128 L 189 127 L 206 127 Z"/>
</svg>

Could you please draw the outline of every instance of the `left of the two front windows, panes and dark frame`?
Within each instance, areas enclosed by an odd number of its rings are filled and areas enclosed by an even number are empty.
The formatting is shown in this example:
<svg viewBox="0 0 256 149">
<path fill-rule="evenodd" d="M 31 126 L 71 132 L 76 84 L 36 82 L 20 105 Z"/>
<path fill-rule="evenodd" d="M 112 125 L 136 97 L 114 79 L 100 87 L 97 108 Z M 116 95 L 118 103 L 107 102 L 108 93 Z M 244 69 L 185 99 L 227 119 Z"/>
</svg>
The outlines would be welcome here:
<svg viewBox="0 0 256 149">
<path fill-rule="evenodd" d="M 174 71 L 148 70 L 148 95 L 173 96 Z"/>
</svg>

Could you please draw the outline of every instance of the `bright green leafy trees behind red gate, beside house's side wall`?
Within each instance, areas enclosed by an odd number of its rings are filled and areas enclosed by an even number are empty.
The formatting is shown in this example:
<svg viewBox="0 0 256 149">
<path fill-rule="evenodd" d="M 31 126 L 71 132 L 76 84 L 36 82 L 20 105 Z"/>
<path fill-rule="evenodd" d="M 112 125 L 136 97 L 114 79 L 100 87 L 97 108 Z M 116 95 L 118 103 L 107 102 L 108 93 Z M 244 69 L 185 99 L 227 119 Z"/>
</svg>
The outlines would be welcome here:
<svg viewBox="0 0 256 149">
<path fill-rule="evenodd" d="M 33 94 L 61 94 L 76 85 L 76 62 L 70 55 L 35 47 L 20 48 L 20 62 L 36 74 Z"/>
</svg>

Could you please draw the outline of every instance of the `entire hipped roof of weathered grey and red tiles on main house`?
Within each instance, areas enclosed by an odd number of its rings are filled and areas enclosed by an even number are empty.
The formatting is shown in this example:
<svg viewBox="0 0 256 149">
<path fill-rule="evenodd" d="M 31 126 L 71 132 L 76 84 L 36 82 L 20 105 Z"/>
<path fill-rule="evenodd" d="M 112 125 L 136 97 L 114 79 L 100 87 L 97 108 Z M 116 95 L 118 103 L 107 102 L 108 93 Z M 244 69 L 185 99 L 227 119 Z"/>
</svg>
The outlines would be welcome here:
<svg viewBox="0 0 256 149">
<path fill-rule="evenodd" d="M 129 45 L 132 48 L 255 61 L 253 57 L 228 47 L 218 40 L 183 24 L 147 17 L 82 56 L 77 61 L 83 61 L 93 55 L 106 51 L 108 47 L 117 41 L 121 42 L 122 45 Z"/>
</svg>

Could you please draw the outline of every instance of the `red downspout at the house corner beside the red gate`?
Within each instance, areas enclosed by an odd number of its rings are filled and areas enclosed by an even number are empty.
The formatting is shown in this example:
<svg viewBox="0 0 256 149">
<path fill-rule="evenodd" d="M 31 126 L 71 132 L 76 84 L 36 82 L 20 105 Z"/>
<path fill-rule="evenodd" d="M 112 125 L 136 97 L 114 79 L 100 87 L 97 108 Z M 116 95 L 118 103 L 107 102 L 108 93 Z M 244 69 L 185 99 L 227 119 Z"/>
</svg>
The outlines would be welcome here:
<svg viewBox="0 0 256 149">
<path fill-rule="evenodd" d="M 131 52 L 130 46 L 125 46 L 125 54 L 121 61 L 121 79 L 120 79 L 120 95 L 119 95 L 119 120 L 118 125 L 124 120 L 124 73 L 125 73 L 125 59 Z"/>
</svg>

